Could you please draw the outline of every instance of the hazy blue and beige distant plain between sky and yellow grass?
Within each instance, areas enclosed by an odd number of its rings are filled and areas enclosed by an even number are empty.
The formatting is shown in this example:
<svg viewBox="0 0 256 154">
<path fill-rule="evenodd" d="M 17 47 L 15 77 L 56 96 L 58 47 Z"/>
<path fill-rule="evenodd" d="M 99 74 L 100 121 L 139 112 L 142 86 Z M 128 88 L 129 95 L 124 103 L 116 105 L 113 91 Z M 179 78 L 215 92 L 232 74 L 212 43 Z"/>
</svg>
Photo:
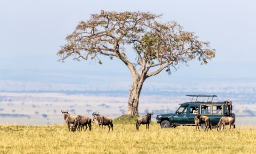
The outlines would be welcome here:
<svg viewBox="0 0 256 154">
<path fill-rule="evenodd" d="M 3 70 L 0 124 L 63 124 L 61 110 L 88 117 L 95 111 L 119 117 L 127 111 L 130 76 L 103 74 Z M 190 101 L 186 94 L 216 94 L 216 101 L 231 100 L 236 123 L 256 125 L 256 79 L 152 78 L 143 86 L 139 115 L 153 111 L 155 121 L 157 114 L 175 112 L 180 103 Z"/>
</svg>

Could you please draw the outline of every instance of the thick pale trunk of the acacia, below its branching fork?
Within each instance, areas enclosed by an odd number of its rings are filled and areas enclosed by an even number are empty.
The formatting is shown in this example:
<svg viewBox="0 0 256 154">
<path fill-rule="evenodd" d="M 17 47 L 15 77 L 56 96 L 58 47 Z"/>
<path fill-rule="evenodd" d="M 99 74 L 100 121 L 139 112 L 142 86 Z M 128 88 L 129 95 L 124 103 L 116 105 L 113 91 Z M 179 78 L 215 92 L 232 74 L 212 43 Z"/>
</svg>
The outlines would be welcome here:
<svg viewBox="0 0 256 154">
<path fill-rule="evenodd" d="M 145 78 L 133 78 L 132 79 L 132 87 L 130 89 L 130 98 L 127 107 L 127 114 L 131 114 L 132 116 L 136 116 L 139 112 L 139 95 L 141 94 L 141 89 Z"/>
</svg>

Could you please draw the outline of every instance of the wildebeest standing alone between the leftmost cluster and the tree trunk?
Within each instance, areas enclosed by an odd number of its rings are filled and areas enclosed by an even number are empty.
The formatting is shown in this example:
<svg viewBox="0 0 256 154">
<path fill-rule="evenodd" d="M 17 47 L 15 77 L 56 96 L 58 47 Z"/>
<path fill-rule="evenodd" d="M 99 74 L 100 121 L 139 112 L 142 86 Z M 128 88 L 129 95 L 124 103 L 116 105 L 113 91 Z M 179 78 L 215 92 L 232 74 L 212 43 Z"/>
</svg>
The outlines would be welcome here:
<svg viewBox="0 0 256 154">
<path fill-rule="evenodd" d="M 93 113 L 93 120 L 97 121 L 97 123 L 99 124 L 99 126 L 101 126 L 101 130 L 103 130 L 103 126 L 108 126 L 108 132 L 110 131 L 110 128 L 113 130 L 113 120 L 110 117 L 105 117 L 100 115 L 99 113 Z"/>
</svg>

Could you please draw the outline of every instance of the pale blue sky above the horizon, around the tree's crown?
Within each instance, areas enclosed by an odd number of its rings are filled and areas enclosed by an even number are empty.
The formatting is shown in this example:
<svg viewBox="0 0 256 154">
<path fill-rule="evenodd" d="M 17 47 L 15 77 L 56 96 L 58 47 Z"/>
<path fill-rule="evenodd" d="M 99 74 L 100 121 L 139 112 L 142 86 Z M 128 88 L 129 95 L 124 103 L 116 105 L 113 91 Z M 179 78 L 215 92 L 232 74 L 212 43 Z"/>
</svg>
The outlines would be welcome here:
<svg viewBox="0 0 256 154">
<path fill-rule="evenodd" d="M 161 22 L 176 21 L 184 30 L 194 32 L 201 41 L 211 42 L 216 57 L 208 65 L 188 62 L 172 76 L 204 78 L 255 78 L 256 1 L 67 1 L 9 0 L 0 2 L 0 71 L 78 70 L 81 72 L 127 73 L 118 60 L 58 62 L 56 53 L 65 37 L 80 21 L 105 11 L 149 11 L 163 14 Z M 189 75 L 188 75 L 189 74 Z M 191 75 L 192 74 L 192 75 Z M 93 75 L 93 74 L 92 74 Z M 164 78 L 169 78 L 161 73 Z M 0 73 L 1 77 L 1 73 Z M 30 77 L 31 78 L 31 77 Z M 34 76 L 36 78 L 36 76 Z M 154 77 L 157 78 L 157 77 Z M 159 77 L 160 78 L 160 77 Z M 1 79 L 1 78 L 0 78 Z"/>
</svg>

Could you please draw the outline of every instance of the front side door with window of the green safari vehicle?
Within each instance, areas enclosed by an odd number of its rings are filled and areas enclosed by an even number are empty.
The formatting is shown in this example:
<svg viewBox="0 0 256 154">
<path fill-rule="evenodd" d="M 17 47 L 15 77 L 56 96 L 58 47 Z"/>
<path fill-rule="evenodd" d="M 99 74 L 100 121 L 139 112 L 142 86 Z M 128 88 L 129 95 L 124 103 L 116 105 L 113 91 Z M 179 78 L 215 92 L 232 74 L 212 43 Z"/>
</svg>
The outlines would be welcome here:
<svg viewBox="0 0 256 154">
<path fill-rule="evenodd" d="M 174 115 L 174 124 L 187 124 L 187 106 L 180 106 Z"/>
</svg>

